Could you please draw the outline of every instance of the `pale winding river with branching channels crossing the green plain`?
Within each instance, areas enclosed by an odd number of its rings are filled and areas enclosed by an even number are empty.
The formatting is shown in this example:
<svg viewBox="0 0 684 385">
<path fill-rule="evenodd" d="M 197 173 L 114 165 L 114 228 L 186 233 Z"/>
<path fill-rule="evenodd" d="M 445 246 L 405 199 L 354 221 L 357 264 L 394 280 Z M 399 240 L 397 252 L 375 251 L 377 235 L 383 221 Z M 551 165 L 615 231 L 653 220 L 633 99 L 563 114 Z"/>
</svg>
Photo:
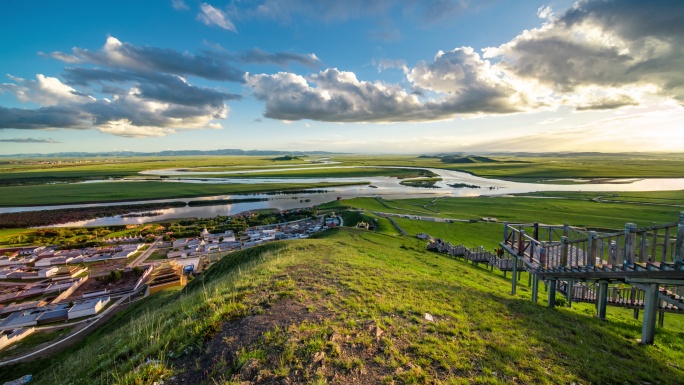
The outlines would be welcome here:
<svg viewBox="0 0 684 385">
<path fill-rule="evenodd" d="M 244 174 L 257 174 L 262 172 L 291 171 L 291 170 L 310 170 L 310 169 L 329 169 L 329 168 L 358 168 L 364 166 L 308 166 L 288 167 L 284 169 L 257 169 L 244 171 L 196 171 L 188 169 L 165 169 L 149 170 L 141 172 L 147 176 L 166 176 L 162 179 L 165 183 L 310 183 L 316 182 L 370 182 L 371 185 L 327 187 L 325 192 L 297 193 L 297 194 L 235 194 L 219 195 L 210 197 L 182 198 L 182 199 L 159 199 L 146 201 L 129 201 L 116 203 L 96 203 L 96 204 L 76 204 L 76 205 L 53 205 L 53 206 L 32 206 L 32 207 L 6 207 L 0 208 L 0 213 L 21 212 L 34 210 L 50 210 L 58 208 L 79 208 L 89 206 L 114 206 L 121 204 L 140 204 L 149 202 L 172 202 L 191 200 L 219 200 L 219 199 L 246 199 L 246 198 L 265 198 L 261 202 L 241 202 L 235 204 L 217 204 L 213 206 L 181 207 L 163 210 L 155 210 L 159 215 L 150 217 L 105 217 L 87 221 L 65 223 L 58 226 L 107 226 L 139 224 L 144 222 L 160 221 L 173 218 L 191 217 L 215 217 L 217 215 L 232 215 L 244 211 L 256 209 L 294 209 L 309 207 L 322 204 L 338 198 L 350 199 L 356 197 L 382 197 L 385 199 L 406 199 L 406 198 L 437 198 L 437 197 L 472 197 L 486 195 L 506 195 L 515 193 L 526 193 L 535 191 L 663 191 L 684 189 L 684 178 L 649 178 L 649 179 L 623 179 L 611 180 L 611 183 L 577 183 L 574 184 L 551 184 L 551 183 L 520 183 L 510 182 L 499 179 L 488 179 L 474 176 L 468 173 L 451 171 L 444 169 L 433 169 L 425 167 L 383 167 L 401 169 L 430 170 L 438 174 L 442 181 L 437 182 L 439 188 L 418 188 L 401 185 L 400 180 L 393 177 L 341 177 L 341 178 L 246 178 Z M 371 167 L 371 166 L 369 166 Z M 379 168 L 379 166 L 372 166 Z M 226 175 L 226 177 L 202 177 L 203 175 Z M 181 178 L 181 176 L 183 178 Z M 561 181 L 561 180 L 559 180 Z M 90 181 L 88 183 L 106 183 L 107 181 Z M 131 181 L 131 183 L 135 183 Z M 466 184 L 476 185 L 480 188 L 453 188 L 449 185 Z M 320 190 L 320 189 L 318 189 Z"/>
</svg>

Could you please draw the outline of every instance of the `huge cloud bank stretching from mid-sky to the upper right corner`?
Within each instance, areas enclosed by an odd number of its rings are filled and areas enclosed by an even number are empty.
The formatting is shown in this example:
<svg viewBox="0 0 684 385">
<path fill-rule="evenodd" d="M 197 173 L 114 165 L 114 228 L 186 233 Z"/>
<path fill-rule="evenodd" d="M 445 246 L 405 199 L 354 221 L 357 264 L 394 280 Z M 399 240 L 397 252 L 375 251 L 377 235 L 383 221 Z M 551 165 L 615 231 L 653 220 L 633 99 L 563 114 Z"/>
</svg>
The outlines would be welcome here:
<svg viewBox="0 0 684 385">
<path fill-rule="evenodd" d="M 265 116 L 282 120 L 422 121 L 561 106 L 612 110 L 654 95 L 684 102 L 684 3 L 586 0 L 558 15 L 542 7 L 538 15 L 541 27 L 482 56 L 460 47 L 413 68 L 400 60 L 373 61 L 379 70 L 402 69 L 408 87 L 359 81 L 336 69 L 308 78 L 248 75 L 248 85 L 266 103 Z"/>
</svg>

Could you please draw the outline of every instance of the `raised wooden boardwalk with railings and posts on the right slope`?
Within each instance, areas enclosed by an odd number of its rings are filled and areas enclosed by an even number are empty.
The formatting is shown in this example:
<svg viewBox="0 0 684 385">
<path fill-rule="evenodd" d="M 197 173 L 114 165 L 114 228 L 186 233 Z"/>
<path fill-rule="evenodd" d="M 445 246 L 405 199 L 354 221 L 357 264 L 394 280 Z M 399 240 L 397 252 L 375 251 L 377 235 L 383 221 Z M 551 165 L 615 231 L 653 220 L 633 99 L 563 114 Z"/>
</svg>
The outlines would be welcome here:
<svg viewBox="0 0 684 385">
<path fill-rule="evenodd" d="M 556 290 L 563 287 L 568 300 L 595 302 L 598 317 L 605 319 L 606 305 L 644 310 L 642 343 L 651 344 L 658 312 L 682 313 L 684 287 L 684 212 L 678 221 L 624 231 L 598 233 L 583 228 L 505 223 L 501 247 L 534 276 L 532 300 L 538 283 L 548 287 L 548 305 L 555 306 Z M 516 291 L 513 263 L 512 293 Z M 582 289 L 593 285 L 592 290 Z M 629 296 L 609 284 L 629 285 Z M 579 288 L 579 289 L 578 289 Z M 576 293 L 577 291 L 577 293 Z"/>
</svg>

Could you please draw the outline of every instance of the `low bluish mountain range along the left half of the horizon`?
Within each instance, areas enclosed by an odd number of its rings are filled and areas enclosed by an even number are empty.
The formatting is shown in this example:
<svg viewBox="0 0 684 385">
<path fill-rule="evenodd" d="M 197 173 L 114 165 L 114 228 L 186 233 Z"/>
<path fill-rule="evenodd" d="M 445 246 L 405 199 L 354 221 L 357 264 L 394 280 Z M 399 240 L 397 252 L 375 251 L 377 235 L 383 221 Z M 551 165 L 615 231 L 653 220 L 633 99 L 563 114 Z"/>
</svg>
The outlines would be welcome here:
<svg viewBox="0 0 684 385">
<path fill-rule="evenodd" d="M 339 154 L 327 151 L 277 151 L 277 150 L 240 150 L 236 148 L 226 148 L 223 150 L 179 150 L 179 151 L 158 151 L 158 152 L 134 152 L 134 151 L 111 151 L 111 152 L 56 152 L 49 154 L 13 154 L 0 155 L 2 158 L 112 158 L 112 157 L 136 157 L 136 156 L 196 156 L 196 155 L 331 155 Z"/>
</svg>

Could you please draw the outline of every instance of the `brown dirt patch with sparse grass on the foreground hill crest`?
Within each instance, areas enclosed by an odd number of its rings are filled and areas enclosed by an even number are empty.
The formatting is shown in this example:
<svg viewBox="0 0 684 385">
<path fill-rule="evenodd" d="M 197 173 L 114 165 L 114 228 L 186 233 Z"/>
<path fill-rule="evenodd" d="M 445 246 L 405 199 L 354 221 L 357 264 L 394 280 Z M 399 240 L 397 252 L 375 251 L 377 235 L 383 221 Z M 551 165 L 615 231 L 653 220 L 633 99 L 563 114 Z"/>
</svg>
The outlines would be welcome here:
<svg viewBox="0 0 684 385">
<path fill-rule="evenodd" d="M 166 383 L 368 384 L 394 374 L 375 361 L 387 349 L 391 331 L 373 320 L 345 324 L 346 309 L 338 302 L 345 288 L 339 281 L 313 276 L 305 267 L 290 269 L 286 279 L 296 282 L 292 290 L 273 290 L 281 276 L 245 297 L 253 304 L 252 315 L 225 322 L 201 352 L 173 362 L 178 374 Z M 337 294 L 327 295 L 331 290 Z"/>
</svg>

